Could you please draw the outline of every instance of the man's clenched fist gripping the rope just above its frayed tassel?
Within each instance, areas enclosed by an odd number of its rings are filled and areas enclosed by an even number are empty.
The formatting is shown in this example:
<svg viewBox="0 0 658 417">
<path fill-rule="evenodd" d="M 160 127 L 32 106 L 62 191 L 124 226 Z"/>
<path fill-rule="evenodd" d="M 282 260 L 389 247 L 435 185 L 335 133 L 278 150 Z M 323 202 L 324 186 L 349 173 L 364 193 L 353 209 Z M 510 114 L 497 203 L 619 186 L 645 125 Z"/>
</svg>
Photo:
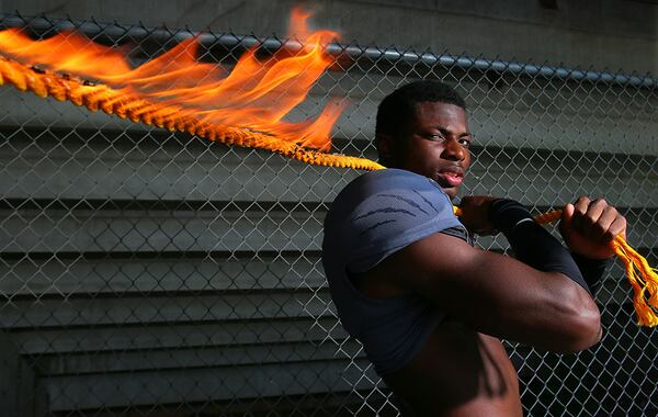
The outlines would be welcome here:
<svg viewBox="0 0 658 417">
<path fill-rule="evenodd" d="M 563 211 L 559 232 L 576 253 L 589 259 L 608 259 L 614 255 L 610 244 L 616 235 L 626 237 L 626 218 L 605 200 L 581 196 Z"/>
</svg>

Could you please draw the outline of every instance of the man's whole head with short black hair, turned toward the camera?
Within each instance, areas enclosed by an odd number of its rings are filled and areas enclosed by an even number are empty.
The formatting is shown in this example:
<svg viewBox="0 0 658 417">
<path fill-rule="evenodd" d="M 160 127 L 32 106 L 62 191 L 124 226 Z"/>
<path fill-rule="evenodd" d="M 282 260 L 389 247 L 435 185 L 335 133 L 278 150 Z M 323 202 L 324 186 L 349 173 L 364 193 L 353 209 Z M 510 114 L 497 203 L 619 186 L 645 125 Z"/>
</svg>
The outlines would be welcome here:
<svg viewBox="0 0 658 417">
<path fill-rule="evenodd" d="M 466 105 L 451 87 L 417 81 L 387 95 L 377 110 L 379 162 L 433 179 L 454 198 L 470 165 Z"/>
</svg>

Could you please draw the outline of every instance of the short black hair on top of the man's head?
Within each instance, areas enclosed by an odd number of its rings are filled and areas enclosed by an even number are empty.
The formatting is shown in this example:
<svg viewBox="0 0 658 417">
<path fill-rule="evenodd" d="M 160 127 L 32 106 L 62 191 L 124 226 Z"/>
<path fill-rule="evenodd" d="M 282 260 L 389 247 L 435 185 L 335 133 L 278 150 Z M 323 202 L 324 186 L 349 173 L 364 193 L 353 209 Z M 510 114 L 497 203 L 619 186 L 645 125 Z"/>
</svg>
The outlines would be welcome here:
<svg viewBox="0 0 658 417">
<path fill-rule="evenodd" d="M 454 104 L 466 110 L 464 99 L 449 84 L 433 80 L 413 81 L 382 100 L 375 133 L 395 136 L 400 126 L 413 116 L 416 104 L 426 101 Z"/>
</svg>

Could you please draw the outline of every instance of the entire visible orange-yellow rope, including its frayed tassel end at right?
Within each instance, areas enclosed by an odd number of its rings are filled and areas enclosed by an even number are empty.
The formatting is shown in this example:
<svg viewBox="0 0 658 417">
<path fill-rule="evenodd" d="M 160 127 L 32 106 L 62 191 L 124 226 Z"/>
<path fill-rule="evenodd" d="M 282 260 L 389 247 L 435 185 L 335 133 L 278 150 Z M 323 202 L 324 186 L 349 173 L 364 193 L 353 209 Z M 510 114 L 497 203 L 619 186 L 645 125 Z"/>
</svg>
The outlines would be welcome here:
<svg viewBox="0 0 658 417">
<path fill-rule="evenodd" d="M 276 136 L 246 128 L 222 126 L 203 122 L 194 116 L 180 112 L 175 105 L 164 108 L 162 104 L 146 100 L 136 94 L 113 90 L 103 84 L 88 84 L 83 80 L 61 76 L 56 72 L 35 70 L 9 58 L 0 57 L 0 86 L 9 83 L 20 91 L 32 91 L 41 98 L 53 97 L 56 100 L 68 100 L 90 111 L 101 110 L 133 122 L 164 127 L 169 131 L 185 132 L 191 135 L 220 142 L 226 145 L 268 149 L 305 164 L 352 168 L 364 170 L 385 169 L 384 166 L 366 158 L 345 155 L 330 155 L 302 147 L 283 140 Z M 458 207 L 454 207 L 460 215 Z M 553 211 L 535 218 L 540 224 L 558 219 L 560 211 Z M 635 292 L 634 304 L 640 326 L 658 325 L 658 274 L 649 267 L 646 259 L 637 253 L 623 237 L 617 236 L 612 245 L 615 253 L 626 266 L 628 282 Z"/>
</svg>

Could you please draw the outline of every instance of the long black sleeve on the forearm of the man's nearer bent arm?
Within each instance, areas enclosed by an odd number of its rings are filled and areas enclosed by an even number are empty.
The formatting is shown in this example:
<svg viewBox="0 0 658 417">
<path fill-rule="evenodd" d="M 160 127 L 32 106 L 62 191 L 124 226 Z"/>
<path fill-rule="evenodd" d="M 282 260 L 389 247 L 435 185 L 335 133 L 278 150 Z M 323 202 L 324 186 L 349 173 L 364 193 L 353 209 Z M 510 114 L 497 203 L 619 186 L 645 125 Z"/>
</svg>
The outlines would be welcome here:
<svg viewBox="0 0 658 417">
<path fill-rule="evenodd" d="M 508 238 L 517 259 L 540 271 L 560 272 L 592 293 L 571 253 L 536 224 L 523 205 L 512 200 L 498 200 L 489 206 L 489 218 Z"/>
</svg>

